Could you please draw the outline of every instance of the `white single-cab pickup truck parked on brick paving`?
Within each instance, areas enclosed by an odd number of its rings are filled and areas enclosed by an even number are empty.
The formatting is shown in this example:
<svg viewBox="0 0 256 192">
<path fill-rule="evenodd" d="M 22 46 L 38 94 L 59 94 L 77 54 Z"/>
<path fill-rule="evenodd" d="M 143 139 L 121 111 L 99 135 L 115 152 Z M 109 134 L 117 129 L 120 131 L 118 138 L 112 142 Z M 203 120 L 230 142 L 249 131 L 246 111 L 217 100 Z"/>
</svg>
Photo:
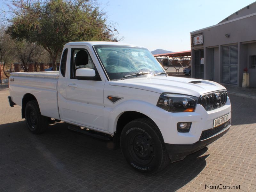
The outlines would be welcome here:
<svg viewBox="0 0 256 192">
<path fill-rule="evenodd" d="M 146 174 L 204 148 L 231 126 L 225 87 L 168 76 L 147 49 L 124 43 L 68 43 L 59 72 L 11 73 L 9 82 L 10 106 L 22 106 L 31 132 L 44 132 L 54 118 L 111 137 Z"/>
</svg>

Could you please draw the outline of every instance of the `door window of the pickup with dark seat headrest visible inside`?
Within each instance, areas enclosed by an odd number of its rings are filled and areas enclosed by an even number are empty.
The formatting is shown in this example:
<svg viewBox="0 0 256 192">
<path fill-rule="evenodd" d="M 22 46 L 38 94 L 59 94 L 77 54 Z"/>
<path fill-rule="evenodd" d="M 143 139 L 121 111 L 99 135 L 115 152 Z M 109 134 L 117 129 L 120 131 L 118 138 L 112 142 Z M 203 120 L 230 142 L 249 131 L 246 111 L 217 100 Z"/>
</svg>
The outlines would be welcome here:
<svg viewBox="0 0 256 192">
<path fill-rule="evenodd" d="M 86 49 L 71 49 L 70 78 L 76 79 L 76 69 L 90 68 L 95 70 L 94 77 L 88 77 L 85 80 L 101 81 L 99 73 L 92 61 L 89 52 Z"/>
</svg>

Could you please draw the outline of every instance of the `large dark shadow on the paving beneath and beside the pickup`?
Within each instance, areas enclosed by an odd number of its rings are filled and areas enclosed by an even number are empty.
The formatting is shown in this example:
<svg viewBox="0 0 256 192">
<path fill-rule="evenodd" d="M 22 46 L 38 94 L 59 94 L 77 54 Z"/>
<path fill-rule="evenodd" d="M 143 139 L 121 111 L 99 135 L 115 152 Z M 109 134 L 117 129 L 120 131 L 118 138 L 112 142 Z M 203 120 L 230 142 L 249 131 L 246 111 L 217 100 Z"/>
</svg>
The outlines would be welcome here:
<svg viewBox="0 0 256 192">
<path fill-rule="evenodd" d="M 155 175 L 142 175 L 112 143 L 50 125 L 40 135 L 25 121 L 0 125 L 0 186 L 4 190 L 175 191 L 205 167 L 207 148 L 170 163 Z M 0 187 L 1 189 L 1 187 Z"/>
</svg>

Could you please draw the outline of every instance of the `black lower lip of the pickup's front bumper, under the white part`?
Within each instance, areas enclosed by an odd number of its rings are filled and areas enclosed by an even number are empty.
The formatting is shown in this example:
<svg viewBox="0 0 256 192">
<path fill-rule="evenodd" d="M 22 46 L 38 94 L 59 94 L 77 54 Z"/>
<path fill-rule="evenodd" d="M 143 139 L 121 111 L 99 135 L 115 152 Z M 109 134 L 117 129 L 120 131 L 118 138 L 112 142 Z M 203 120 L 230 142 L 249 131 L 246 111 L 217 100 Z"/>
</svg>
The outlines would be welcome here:
<svg viewBox="0 0 256 192">
<path fill-rule="evenodd" d="M 228 132 L 231 124 L 228 125 L 227 128 L 222 130 L 221 132 L 213 135 L 212 137 L 209 137 L 205 140 L 197 141 L 193 144 L 185 144 L 185 145 L 179 145 L 179 144 L 168 144 L 165 143 L 165 148 L 169 153 L 170 159 L 172 162 L 183 160 L 187 155 L 194 153 L 213 141 L 219 139 L 222 135 L 224 135 L 226 132 Z"/>
</svg>

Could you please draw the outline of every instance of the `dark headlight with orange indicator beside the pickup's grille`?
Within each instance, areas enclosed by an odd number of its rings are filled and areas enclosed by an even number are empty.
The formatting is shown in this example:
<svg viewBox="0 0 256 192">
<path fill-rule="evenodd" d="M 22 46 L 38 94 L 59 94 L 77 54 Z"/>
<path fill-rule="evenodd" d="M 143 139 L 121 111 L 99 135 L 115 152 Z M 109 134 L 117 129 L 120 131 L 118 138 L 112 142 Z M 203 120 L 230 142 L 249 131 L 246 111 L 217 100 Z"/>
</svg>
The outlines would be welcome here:
<svg viewBox="0 0 256 192">
<path fill-rule="evenodd" d="M 174 93 L 162 93 L 157 106 L 169 112 L 194 112 L 197 97 Z"/>
</svg>

